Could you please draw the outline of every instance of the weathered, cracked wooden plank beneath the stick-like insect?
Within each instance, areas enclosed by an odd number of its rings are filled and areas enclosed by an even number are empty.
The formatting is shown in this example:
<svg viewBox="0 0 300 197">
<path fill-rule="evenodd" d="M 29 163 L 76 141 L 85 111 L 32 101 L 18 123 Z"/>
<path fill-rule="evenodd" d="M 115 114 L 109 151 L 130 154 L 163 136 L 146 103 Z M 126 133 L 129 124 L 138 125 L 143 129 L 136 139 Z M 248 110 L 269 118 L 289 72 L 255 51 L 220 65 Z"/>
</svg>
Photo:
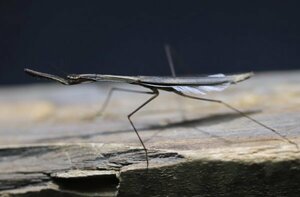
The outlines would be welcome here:
<svg viewBox="0 0 300 197">
<path fill-rule="evenodd" d="M 300 71 L 255 75 L 221 99 L 300 144 Z M 0 195 L 297 196 L 300 152 L 225 107 L 174 94 L 127 120 L 149 95 L 111 86 L 0 88 Z M 135 89 L 136 87 L 126 86 Z"/>
</svg>

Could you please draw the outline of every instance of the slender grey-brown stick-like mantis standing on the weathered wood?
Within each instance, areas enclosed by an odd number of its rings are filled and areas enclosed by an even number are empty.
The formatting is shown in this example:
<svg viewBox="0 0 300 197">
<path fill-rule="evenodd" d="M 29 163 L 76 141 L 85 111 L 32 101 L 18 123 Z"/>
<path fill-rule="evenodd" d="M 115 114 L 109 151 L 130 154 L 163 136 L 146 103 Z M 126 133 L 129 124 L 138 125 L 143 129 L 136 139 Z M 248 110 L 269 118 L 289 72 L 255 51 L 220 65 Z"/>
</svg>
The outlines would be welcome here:
<svg viewBox="0 0 300 197">
<path fill-rule="evenodd" d="M 170 66 L 173 67 L 173 63 L 171 63 L 171 59 L 170 59 L 170 54 L 168 55 L 168 53 L 170 53 L 170 52 L 168 52 L 168 50 L 169 49 L 166 48 L 168 61 L 169 61 Z M 130 124 L 131 124 L 134 132 L 136 133 L 136 135 L 143 147 L 143 150 L 145 152 L 147 169 L 149 166 L 148 150 L 147 150 L 138 130 L 136 129 L 135 125 L 133 124 L 131 117 L 135 113 L 137 113 L 140 109 L 142 109 L 145 105 L 147 105 L 148 103 L 153 101 L 155 98 L 157 98 L 159 96 L 160 91 L 173 92 L 177 95 L 180 95 L 180 96 L 183 96 L 186 98 L 221 104 L 221 105 L 235 111 L 236 113 L 240 114 L 241 116 L 249 119 L 250 121 L 256 123 L 257 125 L 260 125 L 260 126 L 264 127 L 265 129 L 268 129 L 269 131 L 275 133 L 276 135 L 281 137 L 283 140 L 287 141 L 290 144 L 295 145 L 298 149 L 298 145 L 295 142 L 291 141 L 289 138 L 282 135 L 280 132 L 278 132 L 275 129 L 252 118 L 251 116 L 238 110 L 237 108 L 231 106 L 230 104 L 223 102 L 221 100 L 209 99 L 209 98 L 204 98 L 201 96 L 201 95 L 205 95 L 208 92 L 223 91 L 232 84 L 236 84 L 236 83 L 239 83 L 246 79 L 249 79 L 251 76 L 253 76 L 252 72 L 236 74 L 236 75 L 215 74 L 215 75 L 208 75 L 208 76 L 204 76 L 204 77 L 198 77 L 198 76 L 176 77 L 174 69 L 173 69 L 172 77 L 168 77 L 168 76 L 165 76 L 165 77 L 160 77 L 160 76 L 120 76 L 120 75 L 103 75 L 103 74 L 70 74 L 70 75 L 67 75 L 65 78 L 62 78 L 57 75 L 42 73 L 42 72 L 38 72 L 35 70 L 27 69 L 27 68 L 25 68 L 24 71 L 33 77 L 39 77 L 39 78 L 45 78 L 45 79 L 57 81 L 64 85 L 76 85 L 76 84 L 81 84 L 84 82 L 112 81 L 112 82 L 120 82 L 120 83 L 127 83 L 127 84 L 131 84 L 131 85 L 142 86 L 142 87 L 148 89 L 148 91 L 124 90 L 121 88 L 111 89 L 111 91 L 109 92 L 107 99 L 105 100 L 104 105 L 101 109 L 101 112 L 105 109 L 105 107 L 107 106 L 108 101 L 111 97 L 111 94 L 114 90 L 122 90 L 122 91 L 129 91 L 129 92 L 134 92 L 134 93 L 143 93 L 143 94 L 151 95 L 150 98 L 148 98 L 143 104 L 141 104 L 139 107 L 137 107 L 135 110 L 133 110 L 127 116 L 128 121 L 130 122 Z M 190 93 L 192 93 L 192 95 Z M 195 95 L 197 95 L 197 96 L 195 96 Z"/>
</svg>

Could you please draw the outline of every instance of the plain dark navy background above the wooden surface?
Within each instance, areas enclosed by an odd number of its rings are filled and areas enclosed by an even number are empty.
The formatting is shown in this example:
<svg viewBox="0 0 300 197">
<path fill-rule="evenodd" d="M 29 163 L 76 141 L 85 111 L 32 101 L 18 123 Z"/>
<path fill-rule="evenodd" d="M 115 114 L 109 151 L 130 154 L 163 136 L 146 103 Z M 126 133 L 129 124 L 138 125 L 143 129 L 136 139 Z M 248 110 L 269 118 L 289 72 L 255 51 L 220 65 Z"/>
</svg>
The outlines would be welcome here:
<svg viewBox="0 0 300 197">
<path fill-rule="evenodd" d="M 178 75 L 300 68 L 297 1 L 0 1 L 0 84 L 56 74 Z"/>
</svg>

